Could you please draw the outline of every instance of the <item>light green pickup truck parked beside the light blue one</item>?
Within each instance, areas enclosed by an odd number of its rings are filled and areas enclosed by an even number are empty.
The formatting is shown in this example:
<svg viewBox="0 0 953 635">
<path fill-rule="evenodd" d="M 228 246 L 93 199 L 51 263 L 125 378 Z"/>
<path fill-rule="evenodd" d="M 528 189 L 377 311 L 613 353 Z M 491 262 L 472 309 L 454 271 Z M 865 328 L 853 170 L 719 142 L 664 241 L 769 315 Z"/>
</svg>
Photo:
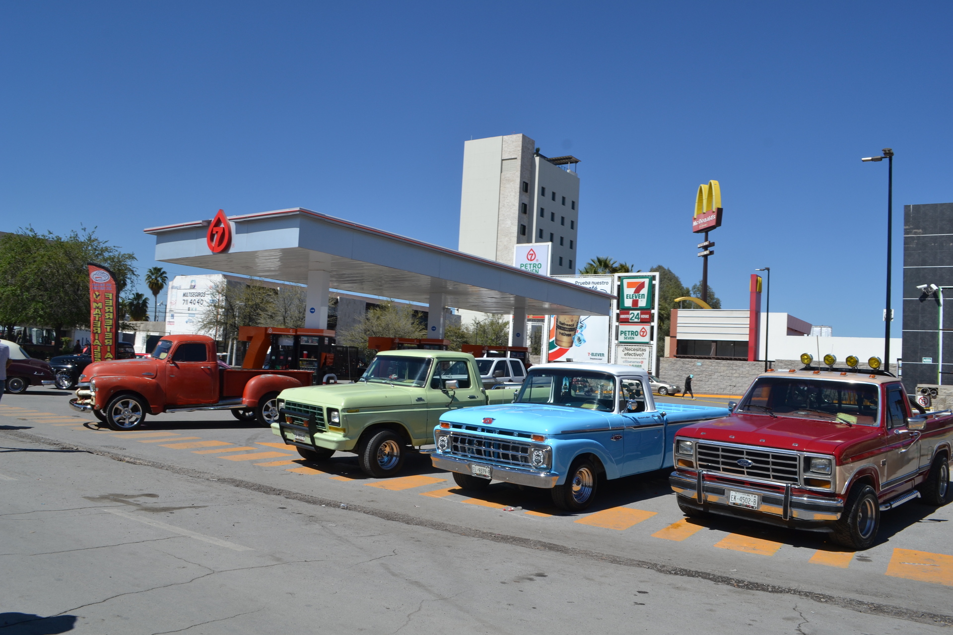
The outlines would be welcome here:
<svg viewBox="0 0 953 635">
<path fill-rule="evenodd" d="M 484 389 L 469 353 L 388 350 L 354 384 L 283 390 L 272 431 L 306 459 L 355 452 L 367 475 L 386 478 L 400 471 L 411 446 L 434 443 L 441 414 L 509 404 L 515 392 Z"/>
</svg>

